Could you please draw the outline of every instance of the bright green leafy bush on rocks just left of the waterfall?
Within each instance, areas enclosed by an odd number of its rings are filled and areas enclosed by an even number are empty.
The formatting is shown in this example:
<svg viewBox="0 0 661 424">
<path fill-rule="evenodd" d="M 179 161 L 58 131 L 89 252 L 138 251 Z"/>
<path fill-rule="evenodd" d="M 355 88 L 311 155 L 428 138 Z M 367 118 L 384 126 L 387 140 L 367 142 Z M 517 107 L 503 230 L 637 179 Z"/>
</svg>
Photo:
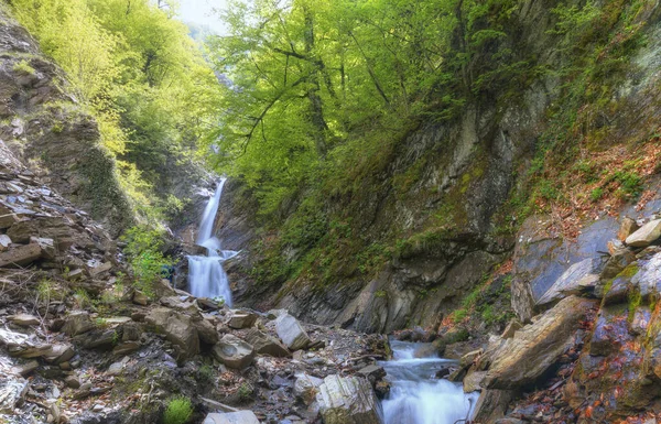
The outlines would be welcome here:
<svg viewBox="0 0 661 424">
<path fill-rule="evenodd" d="M 153 296 L 153 283 L 161 279 L 164 267 L 172 261 L 161 252 L 163 232 L 147 226 L 132 227 L 122 240 L 127 243 L 124 253 L 133 271 L 133 285 L 148 296 Z"/>
</svg>

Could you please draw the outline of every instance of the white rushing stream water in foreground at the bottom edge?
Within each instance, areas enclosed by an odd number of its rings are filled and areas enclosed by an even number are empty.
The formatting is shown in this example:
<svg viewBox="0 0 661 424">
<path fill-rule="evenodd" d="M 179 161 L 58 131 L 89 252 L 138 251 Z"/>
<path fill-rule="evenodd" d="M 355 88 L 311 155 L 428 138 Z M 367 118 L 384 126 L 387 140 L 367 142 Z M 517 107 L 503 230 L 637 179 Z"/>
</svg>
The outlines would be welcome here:
<svg viewBox="0 0 661 424">
<path fill-rule="evenodd" d="M 380 362 L 392 384 L 382 401 L 386 424 L 464 423 L 470 417 L 478 394 L 464 394 L 460 383 L 435 379 L 436 372 L 453 361 L 415 358 L 422 346 L 392 340 L 393 359 Z"/>
</svg>

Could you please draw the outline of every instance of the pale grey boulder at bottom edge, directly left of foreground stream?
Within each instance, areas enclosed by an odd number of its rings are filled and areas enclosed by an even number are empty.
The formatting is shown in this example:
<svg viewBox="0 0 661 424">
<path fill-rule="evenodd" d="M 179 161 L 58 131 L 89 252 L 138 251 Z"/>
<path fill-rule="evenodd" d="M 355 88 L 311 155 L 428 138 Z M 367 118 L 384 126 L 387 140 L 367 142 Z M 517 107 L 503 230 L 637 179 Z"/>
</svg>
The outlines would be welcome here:
<svg viewBox="0 0 661 424">
<path fill-rule="evenodd" d="M 383 413 L 371 384 L 357 377 L 328 376 L 316 401 L 324 424 L 379 424 Z"/>
</svg>

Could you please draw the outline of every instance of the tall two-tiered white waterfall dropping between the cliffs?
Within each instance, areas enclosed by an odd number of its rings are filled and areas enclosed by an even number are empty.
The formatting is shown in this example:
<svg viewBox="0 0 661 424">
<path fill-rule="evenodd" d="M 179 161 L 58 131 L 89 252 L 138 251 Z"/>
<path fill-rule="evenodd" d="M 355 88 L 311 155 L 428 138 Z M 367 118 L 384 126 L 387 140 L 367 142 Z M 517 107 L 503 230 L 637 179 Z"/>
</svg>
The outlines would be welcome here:
<svg viewBox="0 0 661 424">
<path fill-rule="evenodd" d="M 221 297 L 228 306 L 231 306 L 231 290 L 227 273 L 223 269 L 223 262 L 236 256 L 237 252 L 221 250 L 220 240 L 212 236 L 225 181 L 226 178 L 221 178 L 218 182 L 216 193 L 207 203 L 202 215 L 196 242 L 206 248 L 207 254 L 206 257 L 188 257 L 188 286 L 191 294 L 196 297 Z"/>
</svg>

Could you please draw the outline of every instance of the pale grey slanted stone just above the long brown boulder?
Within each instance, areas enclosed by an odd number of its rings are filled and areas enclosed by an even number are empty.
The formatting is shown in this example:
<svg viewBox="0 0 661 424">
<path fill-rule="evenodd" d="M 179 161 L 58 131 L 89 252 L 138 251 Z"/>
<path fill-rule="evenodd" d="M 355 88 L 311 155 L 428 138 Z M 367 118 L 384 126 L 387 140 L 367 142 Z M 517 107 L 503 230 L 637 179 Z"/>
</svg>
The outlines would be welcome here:
<svg viewBox="0 0 661 424">
<path fill-rule="evenodd" d="M 600 259 L 585 259 L 571 265 L 537 302 L 537 306 L 554 303 L 572 294 L 581 294 L 593 282 L 593 287 L 598 281 L 603 261 Z M 595 280 L 596 279 L 596 280 Z M 585 280 L 585 281 L 584 281 Z"/>
</svg>

